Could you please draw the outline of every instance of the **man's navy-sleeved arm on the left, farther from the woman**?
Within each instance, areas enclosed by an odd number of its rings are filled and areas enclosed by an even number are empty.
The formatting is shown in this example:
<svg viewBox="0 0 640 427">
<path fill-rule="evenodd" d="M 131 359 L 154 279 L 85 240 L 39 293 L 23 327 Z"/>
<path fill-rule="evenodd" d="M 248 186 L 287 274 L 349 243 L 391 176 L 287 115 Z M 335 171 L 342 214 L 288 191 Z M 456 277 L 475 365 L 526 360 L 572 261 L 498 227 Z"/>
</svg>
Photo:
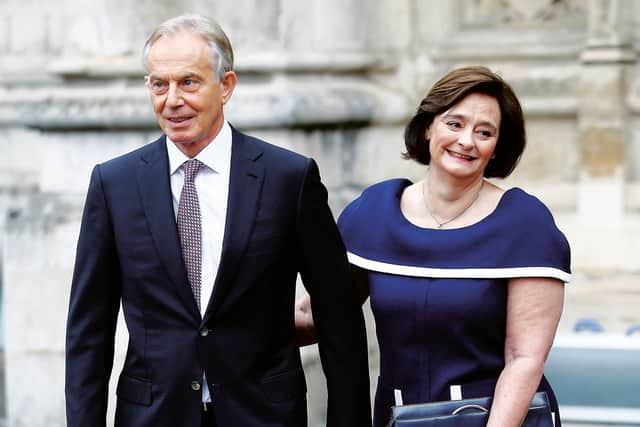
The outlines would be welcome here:
<svg viewBox="0 0 640 427">
<path fill-rule="evenodd" d="M 65 397 L 68 427 L 106 425 L 120 305 L 120 267 L 99 166 L 91 174 L 67 318 Z"/>
</svg>

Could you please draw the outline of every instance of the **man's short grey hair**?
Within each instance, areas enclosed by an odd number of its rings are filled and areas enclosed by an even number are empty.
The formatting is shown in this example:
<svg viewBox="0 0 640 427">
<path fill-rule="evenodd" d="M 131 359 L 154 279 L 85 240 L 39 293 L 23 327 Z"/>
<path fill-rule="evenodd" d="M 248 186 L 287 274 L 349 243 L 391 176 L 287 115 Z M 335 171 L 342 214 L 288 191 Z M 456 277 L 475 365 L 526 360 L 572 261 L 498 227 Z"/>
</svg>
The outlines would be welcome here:
<svg viewBox="0 0 640 427">
<path fill-rule="evenodd" d="M 209 45 L 211 65 L 218 82 L 227 71 L 233 70 L 233 49 L 222 27 L 213 19 L 201 15 L 180 15 L 160 24 L 151 33 L 142 50 L 142 65 L 149 71 L 149 51 L 151 46 L 163 36 L 171 36 L 180 31 L 190 31 L 202 36 Z"/>
</svg>

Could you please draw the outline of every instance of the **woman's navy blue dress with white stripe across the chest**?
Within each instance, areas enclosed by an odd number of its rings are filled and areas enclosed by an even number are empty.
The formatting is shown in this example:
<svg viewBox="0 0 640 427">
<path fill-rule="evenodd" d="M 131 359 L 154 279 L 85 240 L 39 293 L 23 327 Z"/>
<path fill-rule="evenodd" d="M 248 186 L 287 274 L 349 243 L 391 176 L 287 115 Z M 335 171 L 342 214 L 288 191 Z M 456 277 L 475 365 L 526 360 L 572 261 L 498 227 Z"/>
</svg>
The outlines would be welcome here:
<svg viewBox="0 0 640 427">
<path fill-rule="evenodd" d="M 394 390 L 404 404 L 493 395 L 504 367 L 507 283 L 568 282 L 570 250 L 549 210 L 519 188 L 470 226 L 421 228 L 400 210 L 412 183 L 366 189 L 338 220 L 349 261 L 366 270 L 380 346 L 374 427 L 386 425 Z M 543 378 L 553 410 L 557 402 Z M 559 416 L 556 415 L 559 426 Z"/>
</svg>

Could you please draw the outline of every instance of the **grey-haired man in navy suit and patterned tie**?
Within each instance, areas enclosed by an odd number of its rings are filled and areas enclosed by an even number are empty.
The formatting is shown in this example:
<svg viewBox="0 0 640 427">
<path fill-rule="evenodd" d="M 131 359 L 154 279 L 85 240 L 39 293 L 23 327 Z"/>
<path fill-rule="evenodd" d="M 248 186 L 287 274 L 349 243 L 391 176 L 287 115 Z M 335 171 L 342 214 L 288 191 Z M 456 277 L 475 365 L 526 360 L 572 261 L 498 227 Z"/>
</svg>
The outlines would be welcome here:
<svg viewBox="0 0 640 427">
<path fill-rule="evenodd" d="M 225 121 L 236 74 L 211 20 L 163 23 L 144 63 L 164 135 L 93 170 L 69 304 L 67 425 L 105 425 L 122 302 L 116 425 L 305 426 L 299 272 L 327 425 L 369 426 L 362 311 L 315 162 Z"/>
</svg>

